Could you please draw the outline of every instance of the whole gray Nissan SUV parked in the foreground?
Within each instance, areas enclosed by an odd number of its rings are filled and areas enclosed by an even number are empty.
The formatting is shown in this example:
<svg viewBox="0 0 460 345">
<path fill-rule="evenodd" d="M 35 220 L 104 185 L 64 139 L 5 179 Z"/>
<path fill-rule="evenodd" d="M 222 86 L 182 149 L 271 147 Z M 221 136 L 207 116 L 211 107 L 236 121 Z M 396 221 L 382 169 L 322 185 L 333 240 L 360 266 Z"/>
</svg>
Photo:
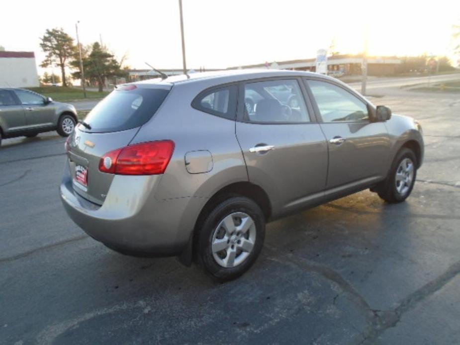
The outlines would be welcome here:
<svg viewBox="0 0 460 345">
<path fill-rule="evenodd" d="M 225 280 L 254 263 L 269 221 L 366 188 L 406 199 L 424 145 L 416 121 L 336 79 L 261 70 L 119 86 L 66 149 L 60 195 L 90 236 Z"/>
</svg>

